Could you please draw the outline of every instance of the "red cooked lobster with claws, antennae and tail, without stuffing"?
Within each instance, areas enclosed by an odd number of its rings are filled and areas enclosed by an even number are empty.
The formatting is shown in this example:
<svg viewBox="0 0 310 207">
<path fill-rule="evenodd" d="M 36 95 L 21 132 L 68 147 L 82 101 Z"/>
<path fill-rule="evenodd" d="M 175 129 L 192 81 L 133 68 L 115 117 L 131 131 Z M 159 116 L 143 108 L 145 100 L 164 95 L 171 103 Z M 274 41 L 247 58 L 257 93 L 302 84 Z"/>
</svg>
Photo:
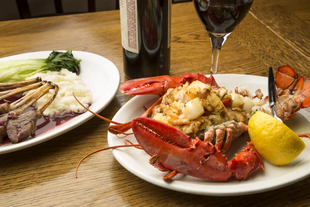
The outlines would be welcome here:
<svg viewBox="0 0 310 207">
<path fill-rule="evenodd" d="M 288 66 L 284 67 L 284 69 L 280 67 L 277 70 L 275 79 L 278 88 L 277 101 L 279 102 L 278 106 L 280 106 L 278 113 L 281 112 L 282 116 L 280 118 L 286 120 L 293 116 L 300 108 L 310 106 L 308 98 L 310 95 L 310 81 L 296 73 L 293 74 L 293 69 L 290 70 Z M 213 88 L 219 89 L 212 75 L 210 78 L 204 78 L 202 76 L 201 74 L 184 74 L 178 77 L 159 76 L 147 79 L 135 79 L 121 84 L 120 91 L 127 95 L 162 95 L 168 88 L 181 86 L 186 82 L 193 82 L 195 80 L 203 81 L 203 83 L 208 83 Z M 283 77 L 290 79 L 290 84 L 282 83 L 281 79 L 284 79 Z M 247 96 L 245 91 L 239 91 L 238 88 L 236 88 L 236 93 Z M 256 91 L 255 97 L 263 97 L 259 89 Z M 108 127 L 109 132 L 125 134 L 126 136 L 134 134 L 139 143 L 134 145 L 125 140 L 125 145 L 108 147 L 99 151 L 129 146 L 143 149 L 151 156 L 149 160 L 150 164 L 161 171 L 171 171 L 164 176 L 164 180 L 171 179 L 178 173 L 183 173 L 207 180 L 226 181 L 230 177 L 238 179 L 246 178 L 252 172 L 260 168 L 263 169 L 263 160 L 251 142 L 248 142 L 244 150 L 236 154 L 231 161 L 227 161 L 227 157 L 223 154 L 232 143 L 232 140 L 247 131 L 247 125 L 245 123 L 230 121 L 217 126 L 211 126 L 204 133 L 203 141 L 198 137 L 192 139 L 187 134 L 170 125 L 149 118 L 153 108 L 161 101 L 162 97 L 140 117 L 125 124 L 113 122 L 91 112 L 115 124 Z M 222 101 L 225 107 L 232 107 L 231 99 L 224 99 Z M 86 108 L 86 110 L 88 109 Z M 268 113 L 268 111 L 265 112 Z M 130 128 L 132 128 L 133 133 L 125 133 Z M 299 136 L 309 137 L 309 134 L 299 134 Z M 89 155 L 86 155 L 82 160 Z"/>
</svg>

